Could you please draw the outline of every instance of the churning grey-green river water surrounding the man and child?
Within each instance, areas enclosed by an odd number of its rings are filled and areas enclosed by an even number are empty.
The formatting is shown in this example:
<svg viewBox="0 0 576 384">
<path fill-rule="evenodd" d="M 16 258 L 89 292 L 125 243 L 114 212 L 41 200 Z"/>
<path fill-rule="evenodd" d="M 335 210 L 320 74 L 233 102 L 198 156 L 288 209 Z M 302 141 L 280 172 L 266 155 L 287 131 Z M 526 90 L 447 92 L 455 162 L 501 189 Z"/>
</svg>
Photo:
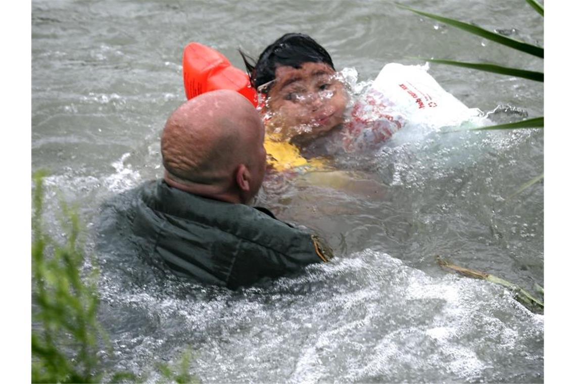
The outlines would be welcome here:
<svg viewBox="0 0 576 384">
<path fill-rule="evenodd" d="M 403 3 L 543 45 L 542 19 L 521 0 Z M 543 314 L 434 258 L 543 286 L 543 185 L 510 197 L 543 172 L 541 130 L 401 130 L 340 163 L 378 185 L 372 195 L 265 183 L 259 203 L 320 231 L 336 258 L 240 291 L 176 279 L 96 230 L 104 201 L 162 174 L 160 132 L 185 100 L 183 47 L 211 45 L 241 67 L 237 48 L 257 56 L 286 32 L 314 37 L 359 81 L 419 57 L 543 67 L 392 2 L 33 1 L 32 169 L 51 173 L 46 220 L 63 198 L 88 228 L 107 369 L 154 381 L 155 362 L 191 349 L 203 382 L 543 382 Z M 493 120 L 543 115 L 540 83 L 429 73 Z"/>
</svg>

